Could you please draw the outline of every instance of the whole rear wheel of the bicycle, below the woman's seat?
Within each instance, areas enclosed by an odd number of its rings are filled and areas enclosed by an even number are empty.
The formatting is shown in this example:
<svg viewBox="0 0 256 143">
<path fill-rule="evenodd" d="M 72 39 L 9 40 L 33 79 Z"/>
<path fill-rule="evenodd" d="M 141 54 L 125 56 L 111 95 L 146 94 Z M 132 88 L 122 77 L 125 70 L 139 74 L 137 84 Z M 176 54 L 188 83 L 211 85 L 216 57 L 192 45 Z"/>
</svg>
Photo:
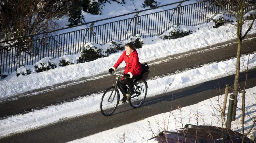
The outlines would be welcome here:
<svg viewBox="0 0 256 143">
<path fill-rule="evenodd" d="M 138 80 L 134 83 L 134 95 L 130 97 L 130 105 L 134 108 L 140 107 L 147 96 L 147 82 L 144 79 Z"/>
</svg>

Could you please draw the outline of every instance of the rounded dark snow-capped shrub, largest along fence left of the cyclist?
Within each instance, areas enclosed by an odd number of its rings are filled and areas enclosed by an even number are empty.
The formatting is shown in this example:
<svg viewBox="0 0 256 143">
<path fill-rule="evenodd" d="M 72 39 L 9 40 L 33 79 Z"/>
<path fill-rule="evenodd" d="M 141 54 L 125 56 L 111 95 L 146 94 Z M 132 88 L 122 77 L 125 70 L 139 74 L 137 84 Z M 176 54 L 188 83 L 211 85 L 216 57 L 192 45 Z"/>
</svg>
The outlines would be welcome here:
<svg viewBox="0 0 256 143">
<path fill-rule="evenodd" d="M 92 42 L 88 42 L 83 47 L 83 51 L 80 52 L 79 63 L 93 61 L 101 58 L 100 50 L 98 47 L 93 46 Z"/>
</svg>

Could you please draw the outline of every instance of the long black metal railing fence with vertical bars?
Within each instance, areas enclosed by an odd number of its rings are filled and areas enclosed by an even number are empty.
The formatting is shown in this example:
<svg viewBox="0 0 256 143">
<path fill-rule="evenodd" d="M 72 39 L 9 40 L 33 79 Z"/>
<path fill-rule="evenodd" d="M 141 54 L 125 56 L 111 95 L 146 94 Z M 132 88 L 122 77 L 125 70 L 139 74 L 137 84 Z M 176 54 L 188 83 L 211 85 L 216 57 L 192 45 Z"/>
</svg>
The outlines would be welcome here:
<svg viewBox="0 0 256 143">
<path fill-rule="evenodd" d="M 33 65 L 45 57 L 58 58 L 63 55 L 77 54 L 87 42 L 103 45 L 113 40 L 124 41 L 135 34 L 140 34 L 143 38 L 154 37 L 166 32 L 173 25 L 196 26 L 209 22 L 219 12 L 235 13 L 212 5 L 211 0 L 185 6 L 181 6 L 182 2 L 184 1 L 179 2 L 179 5 L 173 9 L 141 16 L 139 13 L 142 11 L 138 11 L 134 17 L 128 19 L 97 26 L 94 26 L 97 23 L 95 21 L 89 28 L 55 36 L 42 35 L 38 39 L 33 39 L 35 36 L 27 36 L 0 42 L 0 73 L 10 73 L 20 66 Z M 255 4 L 251 5 L 249 9 L 254 9 L 254 6 Z"/>
</svg>

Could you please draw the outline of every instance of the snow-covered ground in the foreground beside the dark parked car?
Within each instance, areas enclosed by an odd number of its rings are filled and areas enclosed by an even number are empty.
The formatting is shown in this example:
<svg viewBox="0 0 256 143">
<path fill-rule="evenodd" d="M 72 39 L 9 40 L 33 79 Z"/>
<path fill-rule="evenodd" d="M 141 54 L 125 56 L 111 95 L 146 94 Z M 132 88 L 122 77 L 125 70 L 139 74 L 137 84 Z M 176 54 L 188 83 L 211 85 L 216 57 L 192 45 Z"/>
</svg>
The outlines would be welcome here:
<svg viewBox="0 0 256 143">
<path fill-rule="evenodd" d="M 185 124 L 197 125 L 197 121 L 198 125 L 211 125 L 222 127 L 222 121 L 220 120 L 221 117 L 219 116 L 220 112 L 218 110 L 220 110 L 222 107 L 223 99 L 224 95 L 220 95 L 199 102 L 198 104 L 182 107 L 171 112 L 166 112 L 152 117 L 148 117 L 138 122 L 126 124 L 117 128 L 96 133 L 94 135 L 77 139 L 69 143 L 157 143 L 158 141 L 155 141 L 154 139 L 151 139 L 149 141 L 146 140 L 156 136 L 163 130 L 168 129 L 168 131 L 175 131 L 176 129 L 184 127 Z M 237 104 L 239 108 L 242 107 L 241 100 L 242 94 L 239 94 Z M 246 112 L 244 118 L 244 131 L 246 134 L 253 125 L 254 117 L 256 117 L 256 87 L 246 90 L 245 101 Z M 228 103 L 229 99 L 227 100 L 227 107 Z M 228 108 L 226 108 L 226 115 L 227 111 Z M 236 121 L 233 121 L 231 123 L 231 129 L 242 133 L 241 110 L 237 109 L 236 114 Z M 180 122 L 183 123 L 183 126 Z M 226 123 L 223 122 L 223 124 L 225 128 Z M 251 139 L 253 136 L 256 137 L 256 125 L 254 125 L 253 130 L 248 135 L 248 137 Z"/>
</svg>

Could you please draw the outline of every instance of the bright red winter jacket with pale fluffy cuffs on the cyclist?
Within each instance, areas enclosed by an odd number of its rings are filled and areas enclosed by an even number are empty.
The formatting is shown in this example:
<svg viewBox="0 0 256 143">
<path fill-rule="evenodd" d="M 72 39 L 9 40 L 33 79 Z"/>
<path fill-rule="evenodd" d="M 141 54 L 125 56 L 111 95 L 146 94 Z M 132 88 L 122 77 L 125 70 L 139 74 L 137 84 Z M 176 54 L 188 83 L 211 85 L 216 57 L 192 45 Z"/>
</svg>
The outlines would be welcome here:
<svg viewBox="0 0 256 143">
<path fill-rule="evenodd" d="M 124 74 L 129 74 L 130 78 L 133 76 L 137 76 L 141 74 L 141 63 L 139 62 L 139 57 L 136 49 L 133 49 L 133 51 L 126 55 L 126 51 L 123 52 L 123 54 L 120 56 L 120 58 L 117 60 L 115 65 L 113 66 L 114 70 L 116 71 L 117 67 L 125 60 L 126 67 Z"/>
</svg>

